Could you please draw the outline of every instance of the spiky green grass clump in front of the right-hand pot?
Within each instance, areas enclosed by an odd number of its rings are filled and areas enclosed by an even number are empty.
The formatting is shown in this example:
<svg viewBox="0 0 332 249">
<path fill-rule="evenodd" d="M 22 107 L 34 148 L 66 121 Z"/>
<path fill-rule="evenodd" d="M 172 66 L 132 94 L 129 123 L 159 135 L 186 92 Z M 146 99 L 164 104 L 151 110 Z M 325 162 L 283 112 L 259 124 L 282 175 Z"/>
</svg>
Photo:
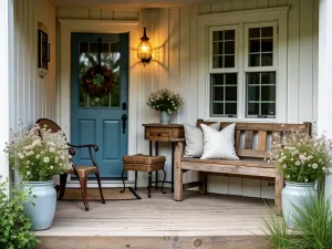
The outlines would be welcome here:
<svg viewBox="0 0 332 249">
<path fill-rule="evenodd" d="M 302 198 L 302 206 L 293 206 L 295 230 L 272 211 L 263 218 L 264 232 L 278 249 L 332 249 L 332 209 L 325 197 Z"/>
</svg>

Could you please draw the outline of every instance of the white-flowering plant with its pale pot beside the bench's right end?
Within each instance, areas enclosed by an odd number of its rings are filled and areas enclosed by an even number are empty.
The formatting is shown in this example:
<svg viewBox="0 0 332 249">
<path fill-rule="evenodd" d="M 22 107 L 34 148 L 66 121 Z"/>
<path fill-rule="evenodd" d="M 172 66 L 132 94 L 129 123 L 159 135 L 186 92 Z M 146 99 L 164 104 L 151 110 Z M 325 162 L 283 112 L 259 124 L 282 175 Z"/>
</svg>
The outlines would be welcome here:
<svg viewBox="0 0 332 249">
<path fill-rule="evenodd" d="M 314 186 L 329 172 L 331 142 L 324 135 L 309 136 L 301 129 L 288 134 L 284 143 L 280 134 L 274 134 L 273 141 L 271 158 L 286 179 L 286 187 L 281 193 L 282 214 L 287 226 L 294 228 L 294 206 L 301 208 L 303 199 L 317 196 Z"/>
</svg>

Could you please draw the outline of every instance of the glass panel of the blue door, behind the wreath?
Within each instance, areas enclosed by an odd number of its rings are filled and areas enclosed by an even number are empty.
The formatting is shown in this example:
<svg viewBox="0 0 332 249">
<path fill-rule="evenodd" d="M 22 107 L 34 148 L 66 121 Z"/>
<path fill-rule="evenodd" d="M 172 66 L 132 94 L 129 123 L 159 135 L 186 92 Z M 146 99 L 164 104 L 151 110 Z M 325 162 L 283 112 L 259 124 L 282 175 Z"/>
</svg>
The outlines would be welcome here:
<svg viewBox="0 0 332 249">
<path fill-rule="evenodd" d="M 91 96 L 83 86 L 83 76 L 93 66 L 98 65 L 98 43 L 80 42 L 80 103 L 81 107 L 120 107 L 120 43 L 102 42 L 101 65 L 107 66 L 113 73 L 115 85 L 110 94 L 102 97 Z M 94 79 L 94 84 L 101 84 L 103 75 Z"/>
</svg>

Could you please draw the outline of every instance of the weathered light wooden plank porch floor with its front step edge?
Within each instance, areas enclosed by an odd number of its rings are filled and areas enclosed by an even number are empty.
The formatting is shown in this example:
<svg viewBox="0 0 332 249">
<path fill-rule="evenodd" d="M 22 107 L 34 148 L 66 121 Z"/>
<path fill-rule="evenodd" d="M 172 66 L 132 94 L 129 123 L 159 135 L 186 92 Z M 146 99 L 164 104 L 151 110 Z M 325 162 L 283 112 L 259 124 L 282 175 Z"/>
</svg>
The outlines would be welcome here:
<svg viewBox="0 0 332 249">
<path fill-rule="evenodd" d="M 141 200 L 59 201 L 53 227 L 37 232 L 38 248 L 268 248 L 260 199 L 186 193 L 185 200 L 138 189 Z"/>
</svg>

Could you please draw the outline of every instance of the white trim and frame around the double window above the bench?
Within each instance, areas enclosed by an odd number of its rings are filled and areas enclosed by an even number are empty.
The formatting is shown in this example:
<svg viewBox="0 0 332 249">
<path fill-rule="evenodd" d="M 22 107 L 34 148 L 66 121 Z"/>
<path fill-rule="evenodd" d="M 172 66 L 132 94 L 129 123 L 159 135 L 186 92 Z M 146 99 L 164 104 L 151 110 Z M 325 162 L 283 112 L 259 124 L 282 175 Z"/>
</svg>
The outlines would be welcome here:
<svg viewBox="0 0 332 249">
<path fill-rule="evenodd" d="M 287 121 L 287 33 L 288 33 L 288 11 L 289 7 L 268 8 L 258 10 L 235 11 L 227 13 L 201 14 L 198 18 L 198 62 L 200 69 L 198 71 L 198 117 L 210 121 L 228 121 L 228 122 L 278 122 L 284 123 Z M 245 75 L 239 73 L 238 76 L 238 116 L 237 118 L 211 117 L 210 116 L 210 101 L 209 101 L 209 29 L 210 27 L 226 27 L 239 25 L 238 29 L 238 46 L 243 48 L 243 25 L 246 23 L 258 22 L 278 22 L 278 64 L 277 64 L 277 90 L 276 90 L 276 118 L 246 118 L 246 100 L 240 96 L 246 96 Z M 238 54 L 239 62 L 243 62 L 243 54 Z M 239 72 L 243 72 L 243 63 L 238 64 Z M 239 92 L 239 91 L 242 91 Z"/>
</svg>

